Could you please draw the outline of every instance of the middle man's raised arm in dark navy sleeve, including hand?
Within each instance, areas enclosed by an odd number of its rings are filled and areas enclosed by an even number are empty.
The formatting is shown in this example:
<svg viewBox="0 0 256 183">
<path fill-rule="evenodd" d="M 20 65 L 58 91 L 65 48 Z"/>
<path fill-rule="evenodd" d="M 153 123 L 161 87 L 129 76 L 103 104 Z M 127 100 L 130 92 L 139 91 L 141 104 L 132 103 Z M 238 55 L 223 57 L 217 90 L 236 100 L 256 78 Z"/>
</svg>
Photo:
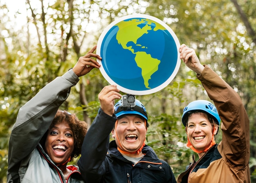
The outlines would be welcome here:
<svg viewBox="0 0 256 183">
<path fill-rule="evenodd" d="M 114 114 L 114 100 L 120 99 L 115 85 L 104 87 L 99 93 L 101 109 L 89 128 L 82 145 L 79 170 L 86 183 L 100 182 L 106 169 L 104 159 L 108 151 L 109 134 L 117 118 Z"/>
</svg>

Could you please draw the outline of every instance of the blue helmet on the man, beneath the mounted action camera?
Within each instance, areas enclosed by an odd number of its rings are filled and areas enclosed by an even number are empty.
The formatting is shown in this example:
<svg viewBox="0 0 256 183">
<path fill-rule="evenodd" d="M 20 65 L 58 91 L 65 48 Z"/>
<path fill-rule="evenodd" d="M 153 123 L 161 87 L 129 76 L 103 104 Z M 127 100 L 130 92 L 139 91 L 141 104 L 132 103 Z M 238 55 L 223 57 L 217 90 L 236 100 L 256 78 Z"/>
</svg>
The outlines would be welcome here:
<svg viewBox="0 0 256 183">
<path fill-rule="evenodd" d="M 122 96 L 123 99 L 123 96 Z M 143 117 L 146 120 L 146 126 L 148 127 L 148 114 L 146 112 L 146 108 L 144 107 L 144 105 L 137 99 L 134 98 L 134 105 L 124 105 L 124 101 L 123 100 L 119 100 L 116 104 L 115 104 L 115 112 L 114 114 L 117 116 L 117 118 L 119 116 L 122 115 L 126 115 L 126 114 L 135 114 L 135 115 L 139 115 L 141 117 Z"/>
</svg>

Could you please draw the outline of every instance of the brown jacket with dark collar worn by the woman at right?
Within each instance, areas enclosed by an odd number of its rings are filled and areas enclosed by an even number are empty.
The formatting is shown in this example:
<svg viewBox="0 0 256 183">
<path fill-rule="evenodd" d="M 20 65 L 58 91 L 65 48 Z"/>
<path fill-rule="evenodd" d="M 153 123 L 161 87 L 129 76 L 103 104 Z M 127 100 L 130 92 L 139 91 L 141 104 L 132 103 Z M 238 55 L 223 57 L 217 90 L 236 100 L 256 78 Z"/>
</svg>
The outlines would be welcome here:
<svg viewBox="0 0 256 183">
<path fill-rule="evenodd" d="M 239 95 L 205 65 L 197 76 L 213 100 L 220 119 L 222 141 L 180 174 L 178 183 L 250 183 L 249 118 Z"/>
</svg>

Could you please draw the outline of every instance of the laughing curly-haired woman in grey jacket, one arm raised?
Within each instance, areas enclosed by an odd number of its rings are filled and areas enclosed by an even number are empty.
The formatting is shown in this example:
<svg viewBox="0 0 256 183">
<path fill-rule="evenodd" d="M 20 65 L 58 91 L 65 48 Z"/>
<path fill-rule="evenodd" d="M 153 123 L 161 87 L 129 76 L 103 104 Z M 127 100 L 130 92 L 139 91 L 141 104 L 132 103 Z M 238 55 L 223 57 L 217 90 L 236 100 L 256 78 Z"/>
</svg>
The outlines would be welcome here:
<svg viewBox="0 0 256 183">
<path fill-rule="evenodd" d="M 9 141 L 8 183 L 83 183 L 79 167 L 67 163 L 81 154 L 87 123 L 58 108 L 80 76 L 99 68 L 91 58 L 101 59 L 95 49 L 19 109 Z"/>
</svg>

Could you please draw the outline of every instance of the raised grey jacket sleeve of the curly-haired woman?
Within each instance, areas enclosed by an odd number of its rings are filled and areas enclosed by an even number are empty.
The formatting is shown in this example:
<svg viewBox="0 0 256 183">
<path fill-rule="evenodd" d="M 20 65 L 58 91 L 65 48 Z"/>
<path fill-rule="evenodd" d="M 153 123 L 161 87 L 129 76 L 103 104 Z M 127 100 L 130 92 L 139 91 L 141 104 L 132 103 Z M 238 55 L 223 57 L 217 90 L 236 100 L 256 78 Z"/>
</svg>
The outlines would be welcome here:
<svg viewBox="0 0 256 183">
<path fill-rule="evenodd" d="M 19 109 L 9 141 L 8 170 L 36 148 L 52 123 L 58 107 L 67 99 L 70 88 L 78 81 L 79 78 L 70 69 L 43 87 Z"/>
</svg>

